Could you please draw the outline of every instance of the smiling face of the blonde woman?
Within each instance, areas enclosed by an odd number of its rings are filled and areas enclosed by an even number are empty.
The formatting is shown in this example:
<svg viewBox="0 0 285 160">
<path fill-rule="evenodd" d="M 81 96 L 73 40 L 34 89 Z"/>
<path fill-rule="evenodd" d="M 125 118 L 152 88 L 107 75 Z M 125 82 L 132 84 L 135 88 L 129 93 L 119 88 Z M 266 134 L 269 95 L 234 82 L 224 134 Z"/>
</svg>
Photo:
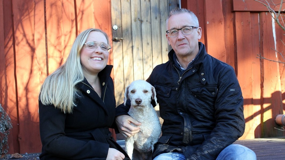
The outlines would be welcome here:
<svg viewBox="0 0 285 160">
<path fill-rule="evenodd" d="M 89 33 L 85 43 L 89 41 L 96 42 L 98 44 L 108 43 L 104 34 L 97 31 L 92 31 Z M 109 52 L 102 50 L 100 45 L 92 50 L 89 50 L 87 46 L 84 45 L 80 52 L 80 62 L 83 66 L 84 74 L 97 75 L 106 67 L 108 57 Z"/>
</svg>

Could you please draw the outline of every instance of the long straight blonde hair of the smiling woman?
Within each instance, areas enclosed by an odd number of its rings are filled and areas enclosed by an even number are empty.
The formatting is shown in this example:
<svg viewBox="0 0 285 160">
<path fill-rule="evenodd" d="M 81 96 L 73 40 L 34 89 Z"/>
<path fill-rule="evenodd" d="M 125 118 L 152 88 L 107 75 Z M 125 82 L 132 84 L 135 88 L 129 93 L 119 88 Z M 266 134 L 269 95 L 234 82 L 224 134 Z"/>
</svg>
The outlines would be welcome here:
<svg viewBox="0 0 285 160">
<path fill-rule="evenodd" d="M 81 32 L 76 37 L 65 63 L 44 80 L 39 95 L 43 105 L 54 105 L 64 113 L 72 113 L 73 107 L 76 106 L 75 99 L 81 96 L 76 84 L 84 79 L 80 62 L 81 48 L 92 31 L 103 33 L 108 44 L 110 43 L 107 34 L 102 30 L 90 28 Z"/>
</svg>

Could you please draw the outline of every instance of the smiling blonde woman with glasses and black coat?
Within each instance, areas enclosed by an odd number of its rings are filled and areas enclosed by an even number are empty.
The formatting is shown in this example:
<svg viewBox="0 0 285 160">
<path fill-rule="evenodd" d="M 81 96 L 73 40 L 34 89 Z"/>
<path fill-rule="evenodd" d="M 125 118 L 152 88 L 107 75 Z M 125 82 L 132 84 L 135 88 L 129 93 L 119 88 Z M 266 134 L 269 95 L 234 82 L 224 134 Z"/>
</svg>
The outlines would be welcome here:
<svg viewBox="0 0 285 160">
<path fill-rule="evenodd" d="M 111 46 L 106 33 L 80 33 L 66 62 L 44 81 L 39 96 L 41 160 L 128 159 L 109 131 L 115 127 Z M 126 157 L 126 158 L 125 158 Z"/>
</svg>

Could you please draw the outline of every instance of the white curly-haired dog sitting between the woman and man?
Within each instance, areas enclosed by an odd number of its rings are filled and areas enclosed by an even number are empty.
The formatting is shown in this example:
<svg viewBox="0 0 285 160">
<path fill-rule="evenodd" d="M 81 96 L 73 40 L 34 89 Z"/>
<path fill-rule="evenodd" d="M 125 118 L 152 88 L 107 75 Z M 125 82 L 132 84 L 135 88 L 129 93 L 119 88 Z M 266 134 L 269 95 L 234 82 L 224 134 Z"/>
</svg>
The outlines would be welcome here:
<svg viewBox="0 0 285 160">
<path fill-rule="evenodd" d="M 126 152 L 134 160 L 151 159 L 154 143 L 161 135 L 161 124 L 151 105 L 152 99 L 157 105 L 155 89 L 145 80 L 135 80 L 125 90 L 124 105 L 126 105 L 127 99 L 131 100 L 128 114 L 141 125 L 140 132 L 126 138 Z M 133 156 L 134 149 L 138 151 L 139 157 Z"/>
</svg>

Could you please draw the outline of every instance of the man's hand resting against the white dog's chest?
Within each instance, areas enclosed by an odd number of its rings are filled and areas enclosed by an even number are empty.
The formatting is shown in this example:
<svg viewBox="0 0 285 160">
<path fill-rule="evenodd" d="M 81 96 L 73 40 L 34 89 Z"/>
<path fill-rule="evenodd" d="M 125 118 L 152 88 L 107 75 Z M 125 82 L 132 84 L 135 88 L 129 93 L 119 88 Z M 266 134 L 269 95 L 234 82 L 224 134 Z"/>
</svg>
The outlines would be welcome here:
<svg viewBox="0 0 285 160">
<path fill-rule="evenodd" d="M 140 132 L 140 127 L 134 127 L 131 123 L 137 126 L 141 125 L 141 123 L 131 118 L 131 116 L 120 115 L 115 118 L 115 121 L 120 133 L 126 138 Z"/>
</svg>

